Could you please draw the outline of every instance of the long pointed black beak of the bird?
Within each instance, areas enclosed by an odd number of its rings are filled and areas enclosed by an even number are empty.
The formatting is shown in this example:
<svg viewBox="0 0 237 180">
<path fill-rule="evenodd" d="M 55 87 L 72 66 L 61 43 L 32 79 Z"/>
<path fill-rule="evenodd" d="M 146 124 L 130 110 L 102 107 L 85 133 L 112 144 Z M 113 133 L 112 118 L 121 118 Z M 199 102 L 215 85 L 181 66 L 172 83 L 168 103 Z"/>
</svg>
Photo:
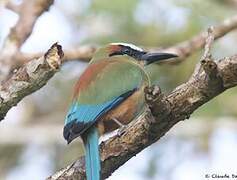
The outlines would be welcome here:
<svg viewBox="0 0 237 180">
<path fill-rule="evenodd" d="M 146 53 L 141 56 L 141 60 L 145 62 L 145 65 L 152 64 L 154 62 L 163 61 L 170 58 L 177 58 L 176 54 L 170 53 Z"/>
</svg>

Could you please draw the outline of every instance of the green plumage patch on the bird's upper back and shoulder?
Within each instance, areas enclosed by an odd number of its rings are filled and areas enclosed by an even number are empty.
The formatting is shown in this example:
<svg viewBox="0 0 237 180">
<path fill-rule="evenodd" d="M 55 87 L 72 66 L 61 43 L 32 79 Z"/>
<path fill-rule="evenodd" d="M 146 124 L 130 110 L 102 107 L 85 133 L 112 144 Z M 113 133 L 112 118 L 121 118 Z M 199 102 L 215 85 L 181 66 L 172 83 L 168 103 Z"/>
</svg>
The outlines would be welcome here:
<svg viewBox="0 0 237 180">
<path fill-rule="evenodd" d="M 103 69 L 94 76 L 85 89 L 78 93 L 77 101 L 81 104 L 101 104 L 112 100 L 134 88 L 148 85 L 149 78 L 142 67 L 133 63 L 129 57 L 111 57 L 110 60 L 101 60 Z M 93 64 L 96 68 L 97 63 Z M 88 72 L 89 73 L 89 72 Z"/>
</svg>

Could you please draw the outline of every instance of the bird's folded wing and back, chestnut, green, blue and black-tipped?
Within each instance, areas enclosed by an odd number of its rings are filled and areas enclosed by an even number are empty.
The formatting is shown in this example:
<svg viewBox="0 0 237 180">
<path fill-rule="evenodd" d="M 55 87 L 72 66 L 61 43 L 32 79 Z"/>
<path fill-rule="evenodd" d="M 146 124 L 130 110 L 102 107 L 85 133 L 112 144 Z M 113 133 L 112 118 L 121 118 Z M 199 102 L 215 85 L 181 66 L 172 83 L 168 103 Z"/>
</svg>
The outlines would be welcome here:
<svg viewBox="0 0 237 180">
<path fill-rule="evenodd" d="M 64 130 L 81 135 L 99 117 L 133 94 L 145 79 L 138 65 L 126 61 L 91 64 L 76 84 Z"/>
</svg>

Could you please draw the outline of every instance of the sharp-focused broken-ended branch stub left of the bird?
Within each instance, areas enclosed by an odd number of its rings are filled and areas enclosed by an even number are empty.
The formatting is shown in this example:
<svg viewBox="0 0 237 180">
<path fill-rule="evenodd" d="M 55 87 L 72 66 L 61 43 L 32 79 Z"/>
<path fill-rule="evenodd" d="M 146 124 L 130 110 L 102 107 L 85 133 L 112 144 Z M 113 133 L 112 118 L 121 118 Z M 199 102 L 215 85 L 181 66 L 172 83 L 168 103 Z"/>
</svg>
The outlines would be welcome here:
<svg viewBox="0 0 237 180">
<path fill-rule="evenodd" d="M 0 86 L 0 119 L 22 98 L 43 87 L 57 72 L 63 56 L 62 48 L 54 44 L 41 58 L 34 59 L 20 69 Z"/>
</svg>

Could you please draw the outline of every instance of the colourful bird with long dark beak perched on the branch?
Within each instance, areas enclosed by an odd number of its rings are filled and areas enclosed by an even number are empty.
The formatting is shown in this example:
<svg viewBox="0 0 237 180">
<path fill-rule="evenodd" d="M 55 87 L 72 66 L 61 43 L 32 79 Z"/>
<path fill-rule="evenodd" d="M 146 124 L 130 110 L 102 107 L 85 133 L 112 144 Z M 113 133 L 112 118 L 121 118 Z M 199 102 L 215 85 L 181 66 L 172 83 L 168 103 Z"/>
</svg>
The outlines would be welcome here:
<svg viewBox="0 0 237 180">
<path fill-rule="evenodd" d="M 79 136 L 83 140 L 88 180 L 101 179 L 99 137 L 128 124 L 146 106 L 144 88 L 151 83 L 143 66 L 173 57 L 126 43 L 95 52 L 75 85 L 63 129 L 68 144 Z"/>
</svg>

